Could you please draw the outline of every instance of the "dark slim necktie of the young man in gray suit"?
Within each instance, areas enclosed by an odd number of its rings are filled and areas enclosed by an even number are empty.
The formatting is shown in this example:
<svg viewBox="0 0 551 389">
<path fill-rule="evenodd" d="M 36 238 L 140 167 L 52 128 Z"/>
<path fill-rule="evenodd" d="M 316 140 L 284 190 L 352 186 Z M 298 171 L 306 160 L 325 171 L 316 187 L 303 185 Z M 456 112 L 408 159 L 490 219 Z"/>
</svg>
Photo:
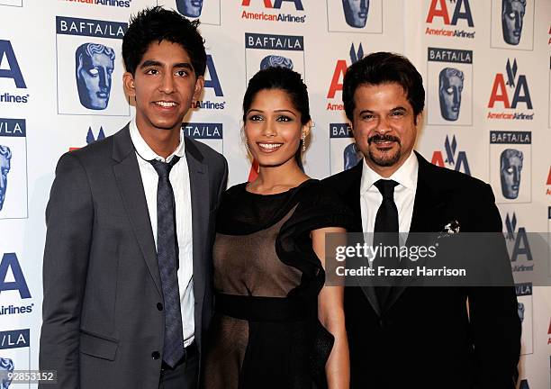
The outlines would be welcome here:
<svg viewBox="0 0 551 389">
<path fill-rule="evenodd" d="M 176 253 L 175 200 L 168 176 L 180 158 L 174 156 L 169 163 L 150 160 L 158 174 L 157 185 L 157 260 L 165 301 L 165 339 L 163 360 L 174 367 L 184 357 L 182 312 L 178 289 Z"/>
</svg>

